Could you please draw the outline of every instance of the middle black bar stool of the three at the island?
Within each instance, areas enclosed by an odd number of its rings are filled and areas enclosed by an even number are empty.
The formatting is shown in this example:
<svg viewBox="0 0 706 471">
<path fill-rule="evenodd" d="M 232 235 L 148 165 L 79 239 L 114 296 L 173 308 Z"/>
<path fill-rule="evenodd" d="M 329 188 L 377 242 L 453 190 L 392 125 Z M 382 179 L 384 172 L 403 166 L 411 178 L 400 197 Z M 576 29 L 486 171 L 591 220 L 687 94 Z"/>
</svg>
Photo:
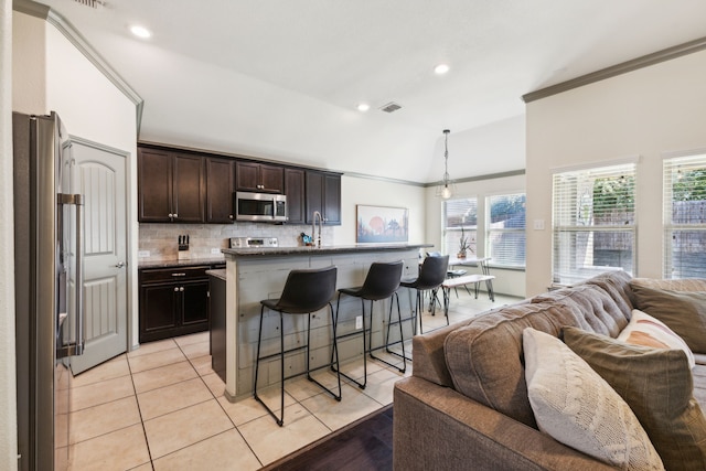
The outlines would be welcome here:
<svg viewBox="0 0 706 471">
<path fill-rule="evenodd" d="M 407 360 L 404 357 L 405 353 L 405 342 L 402 336 L 402 322 L 397 322 L 399 325 L 399 336 L 403 340 L 402 343 L 402 352 L 403 352 L 403 367 L 392 364 L 383 358 L 373 355 L 373 351 L 388 347 L 388 343 L 382 346 L 376 346 L 373 349 L 373 306 L 375 301 L 379 301 L 382 299 L 391 298 L 389 300 L 389 314 L 387 317 L 387 342 L 389 342 L 389 329 L 392 325 L 392 317 L 393 317 L 393 301 L 397 299 L 397 319 L 400 319 L 399 313 L 399 298 L 397 297 L 397 289 L 399 288 L 399 279 L 402 277 L 402 267 L 403 263 L 393 261 L 393 263 L 379 263 L 376 261 L 371 265 L 370 270 L 367 271 L 367 276 L 365 277 L 365 281 L 362 287 L 356 288 L 340 288 L 339 289 L 339 300 L 336 302 L 336 318 L 338 313 L 340 313 L 341 306 L 341 295 L 353 296 L 356 298 L 361 298 L 361 308 L 363 311 L 363 331 L 362 332 L 351 332 L 344 335 L 339 336 L 339 339 L 345 339 L 351 335 L 363 334 L 363 383 L 359 383 L 356 379 L 346 375 L 345 373 L 340 373 L 342 376 L 351 379 L 353 383 L 357 384 L 361 389 L 365 389 L 367 385 L 367 360 L 365 357 L 366 354 L 371 355 L 371 358 L 383 362 L 389 366 L 393 366 L 399 370 L 400 373 L 405 373 L 407 370 Z M 371 327 L 370 329 L 365 327 L 365 301 L 371 301 Z M 368 341 L 365 342 L 365 332 L 368 333 Z M 389 352 L 389 350 L 388 350 Z M 332 367 L 333 370 L 333 367 Z M 334 370 L 335 371 L 335 370 Z"/>
</svg>

